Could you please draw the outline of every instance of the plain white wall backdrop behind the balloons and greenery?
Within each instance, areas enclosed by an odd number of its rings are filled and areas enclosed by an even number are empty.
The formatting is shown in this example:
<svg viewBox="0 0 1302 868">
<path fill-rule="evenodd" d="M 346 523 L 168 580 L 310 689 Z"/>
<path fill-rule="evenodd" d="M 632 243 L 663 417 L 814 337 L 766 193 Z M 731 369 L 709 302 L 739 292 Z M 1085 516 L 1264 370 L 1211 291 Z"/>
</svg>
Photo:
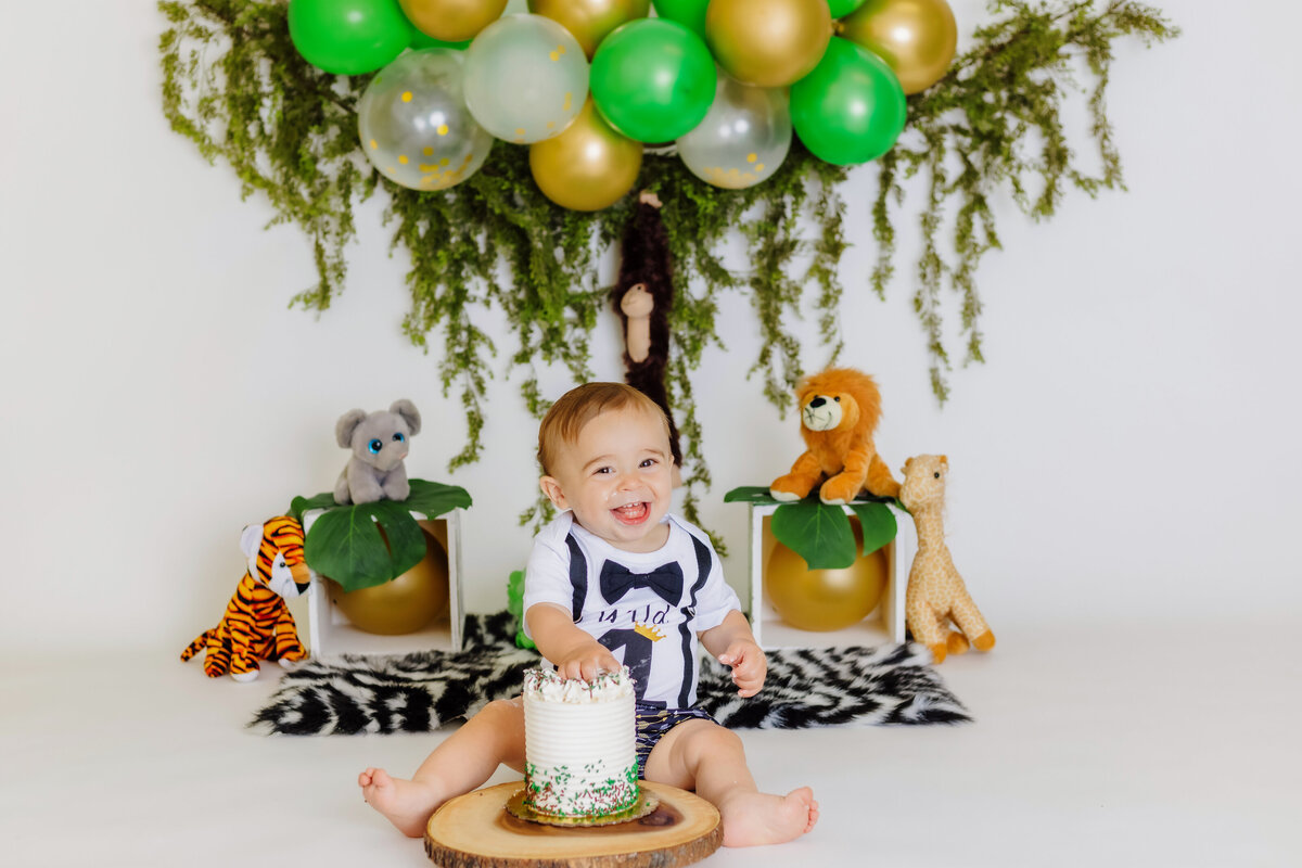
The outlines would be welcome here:
<svg viewBox="0 0 1302 868">
<path fill-rule="evenodd" d="M 460 403 L 440 394 L 436 358 L 400 332 L 405 263 L 388 255 L 379 203 L 358 210 L 344 295 L 320 316 L 288 310 L 314 281 L 310 247 L 293 228 L 263 230 L 268 206 L 241 202 L 229 168 L 169 131 L 154 4 L 7 7 L 0 648 L 180 651 L 240 576 L 240 528 L 328 489 L 345 462 L 335 419 L 398 397 L 426 420 L 409 471 L 475 498 L 469 608 L 503 608 L 529 550 L 516 515 L 534 497 L 536 427 L 499 360 L 486 457 L 447 474 Z M 984 16 L 973 0 L 954 8 L 967 33 Z M 880 302 L 867 289 L 875 173 L 844 189 L 857 245 L 842 264 L 844 360 L 879 377 L 893 467 L 949 455 L 950 548 L 996 631 L 1302 614 L 1288 544 L 1302 519 L 1302 10 L 1165 9 L 1181 39 L 1117 44 L 1109 105 L 1129 193 L 1073 193 L 1047 224 L 1001 203 L 1005 250 L 979 273 L 988 362 L 953 372 L 943 410 L 910 310 L 917 198 Z M 728 351 L 708 353 L 695 380 L 715 478 L 703 514 L 733 547 L 741 587 L 745 509 L 721 496 L 783 472 L 799 440 L 745 381 L 758 347 L 746 299 L 721 307 Z M 508 355 L 501 321 L 483 321 Z M 607 318 L 598 376 L 621 376 L 617 347 Z M 807 344 L 806 366 L 823 362 Z"/>
</svg>

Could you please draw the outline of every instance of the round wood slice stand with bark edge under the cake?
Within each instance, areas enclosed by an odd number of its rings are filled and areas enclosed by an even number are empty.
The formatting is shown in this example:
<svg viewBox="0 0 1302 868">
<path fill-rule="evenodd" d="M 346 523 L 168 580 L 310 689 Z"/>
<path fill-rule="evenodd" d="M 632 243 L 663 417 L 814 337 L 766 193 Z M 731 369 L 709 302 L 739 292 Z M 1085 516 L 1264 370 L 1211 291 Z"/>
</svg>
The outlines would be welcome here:
<svg viewBox="0 0 1302 868">
<path fill-rule="evenodd" d="M 676 868 L 723 843 L 719 811 L 700 796 L 651 781 L 660 799 L 641 820 L 609 826 L 548 826 L 506 812 L 522 781 L 452 799 L 424 832 L 424 851 L 441 868 Z"/>
</svg>

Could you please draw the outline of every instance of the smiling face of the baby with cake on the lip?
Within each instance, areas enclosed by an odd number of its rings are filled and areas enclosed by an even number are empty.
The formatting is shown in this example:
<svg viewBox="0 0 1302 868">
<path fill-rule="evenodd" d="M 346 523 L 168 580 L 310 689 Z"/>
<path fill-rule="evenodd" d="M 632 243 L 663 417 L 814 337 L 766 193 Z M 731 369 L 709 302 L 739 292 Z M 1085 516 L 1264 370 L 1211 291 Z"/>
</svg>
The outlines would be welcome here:
<svg viewBox="0 0 1302 868">
<path fill-rule="evenodd" d="M 557 450 L 543 492 L 574 521 L 625 552 L 654 552 L 669 536 L 663 519 L 673 492 L 664 422 L 629 406 L 594 418 Z"/>
</svg>

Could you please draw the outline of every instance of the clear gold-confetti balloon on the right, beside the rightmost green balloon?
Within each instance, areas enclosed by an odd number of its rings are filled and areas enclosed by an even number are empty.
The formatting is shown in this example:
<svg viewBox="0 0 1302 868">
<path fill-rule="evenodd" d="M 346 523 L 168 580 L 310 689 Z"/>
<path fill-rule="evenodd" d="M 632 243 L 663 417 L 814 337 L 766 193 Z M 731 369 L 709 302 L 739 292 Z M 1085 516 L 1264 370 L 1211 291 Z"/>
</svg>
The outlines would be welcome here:
<svg viewBox="0 0 1302 868">
<path fill-rule="evenodd" d="M 750 87 L 720 72 L 710 113 L 678 139 L 678 156 L 702 181 L 742 190 L 773 174 L 790 147 L 786 88 Z"/>
</svg>

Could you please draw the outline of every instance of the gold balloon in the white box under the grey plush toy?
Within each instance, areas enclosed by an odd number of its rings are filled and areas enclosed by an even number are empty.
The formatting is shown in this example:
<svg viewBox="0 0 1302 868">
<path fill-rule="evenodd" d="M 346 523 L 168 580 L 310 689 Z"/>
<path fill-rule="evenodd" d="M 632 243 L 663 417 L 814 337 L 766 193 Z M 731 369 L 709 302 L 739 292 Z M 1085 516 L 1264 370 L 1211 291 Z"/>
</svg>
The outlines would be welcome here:
<svg viewBox="0 0 1302 868">
<path fill-rule="evenodd" d="M 345 592 L 326 579 L 331 600 L 363 632 L 396 636 L 415 632 L 448 605 L 448 552 L 424 531 L 426 554 L 392 582 Z"/>
</svg>

